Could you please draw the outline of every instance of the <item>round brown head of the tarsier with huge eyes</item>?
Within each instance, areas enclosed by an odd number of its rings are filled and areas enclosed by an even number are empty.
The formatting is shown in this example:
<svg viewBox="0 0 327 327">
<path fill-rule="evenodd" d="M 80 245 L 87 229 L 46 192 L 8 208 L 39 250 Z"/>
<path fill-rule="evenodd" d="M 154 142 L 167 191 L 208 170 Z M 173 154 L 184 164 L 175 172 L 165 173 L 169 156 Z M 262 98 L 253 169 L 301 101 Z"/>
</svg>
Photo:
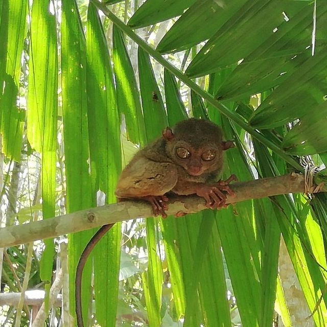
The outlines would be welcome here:
<svg viewBox="0 0 327 327">
<path fill-rule="evenodd" d="M 221 129 L 210 121 L 189 119 L 166 128 L 162 136 L 167 140 L 167 154 L 186 172 L 199 176 L 222 169 L 222 151 L 233 147 L 223 141 Z"/>
</svg>

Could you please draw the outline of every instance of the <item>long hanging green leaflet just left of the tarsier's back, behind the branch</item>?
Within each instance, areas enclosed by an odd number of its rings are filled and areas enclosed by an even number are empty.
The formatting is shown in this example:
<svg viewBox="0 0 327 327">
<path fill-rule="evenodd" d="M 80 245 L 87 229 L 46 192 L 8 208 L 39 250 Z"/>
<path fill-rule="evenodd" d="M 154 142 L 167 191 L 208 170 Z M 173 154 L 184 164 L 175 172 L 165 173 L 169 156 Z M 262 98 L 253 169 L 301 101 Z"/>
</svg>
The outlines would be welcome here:
<svg viewBox="0 0 327 327">
<path fill-rule="evenodd" d="M 106 202 L 115 202 L 114 189 L 121 169 L 120 120 L 109 51 L 96 7 L 88 7 L 86 27 L 87 95 L 92 196 L 98 190 Z M 118 305 L 121 224 L 110 229 L 95 248 L 95 297 L 97 319 L 115 326 Z M 107 253 L 110 253 L 108 255 Z"/>
</svg>

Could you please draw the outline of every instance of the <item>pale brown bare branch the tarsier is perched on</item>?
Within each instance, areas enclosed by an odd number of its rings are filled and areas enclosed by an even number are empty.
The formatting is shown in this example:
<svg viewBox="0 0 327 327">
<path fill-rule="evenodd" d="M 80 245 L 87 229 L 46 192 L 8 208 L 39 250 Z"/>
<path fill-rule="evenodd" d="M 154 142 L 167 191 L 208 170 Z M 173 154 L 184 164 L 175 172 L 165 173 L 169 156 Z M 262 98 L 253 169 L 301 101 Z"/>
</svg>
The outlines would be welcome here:
<svg viewBox="0 0 327 327">
<path fill-rule="evenodd" d="M 301 174 L 269 177 L 231 184 L 236 193 L 227 197 L 226 203 L 237 203 L 249 199 L 269 196 L 303 193 L 304 177 Z M 168 215 L 178 212 L 196 213 L 205 209 L 205 201 L 197 196 L 174 196 L 170 198 Z M 137 217 L 152 217 L 152 207 L 144 201 L 125 201 L 78 211 L 46 220 L 17 226 L 0 228 L 0 248 L 24 244 L 41 239 L 54 238 L 105 224 Z"/>
</svg>

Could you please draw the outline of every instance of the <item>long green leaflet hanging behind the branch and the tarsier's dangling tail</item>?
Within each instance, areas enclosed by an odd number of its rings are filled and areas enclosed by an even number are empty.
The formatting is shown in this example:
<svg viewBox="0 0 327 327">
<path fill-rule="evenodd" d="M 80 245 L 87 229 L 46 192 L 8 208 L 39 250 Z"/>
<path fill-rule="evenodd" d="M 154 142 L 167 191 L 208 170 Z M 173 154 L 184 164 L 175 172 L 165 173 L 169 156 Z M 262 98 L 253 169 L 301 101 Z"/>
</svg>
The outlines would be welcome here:
<svg viewBox="0 0 327 327">
<path fill-rule="evenodd" d="M 61 21 L 61 84 L 63 131 L 65 139 L 66 208 L 68 213 L 89 208 L 91 179 L 88 160 L 88 125 L 86 97 L 86 46 L 75 0 L 62 1 Z M 80 255 L 92 231 L 69 235 L 69 271 L 75 276 Z M 91 282 L 91 261 L 84 268 L 82 280 L 83 319 L 86 322 Z M 69 279 L 69 305 L 75 312 L 75 281 Z"/>
</svg>

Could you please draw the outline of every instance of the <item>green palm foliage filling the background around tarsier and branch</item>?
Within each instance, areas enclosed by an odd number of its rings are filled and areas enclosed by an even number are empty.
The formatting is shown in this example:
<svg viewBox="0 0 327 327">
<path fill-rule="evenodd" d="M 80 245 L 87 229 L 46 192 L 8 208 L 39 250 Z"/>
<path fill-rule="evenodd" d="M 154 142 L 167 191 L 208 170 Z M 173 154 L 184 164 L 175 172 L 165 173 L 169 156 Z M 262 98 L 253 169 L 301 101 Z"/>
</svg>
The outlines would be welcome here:
<svg viewBox="0 0 327 327">
<path fill-rule="evenodd" d="M 302 171 L 299 156 L 326 164 L 325 2 L 115 3 L 0 3 L 2 151 L 7 162 L 20 161 L 22 153 L 41 154 L 43 219 L 58 214 L 60 149 L 66 212 L 96 206 L 99 190 L 112 203 L 131 147 L 125 136 L 142 147 L 168 124 L 191 116 L 221 125 L 226 139 L 235 141 L 237 147 L 226 153 L 226 176 L 246 181 Z M 129 18 L 127 24 L 119 17 Z M 150 36 L 161 27 L 163 37 L 154 44 Z M 185 90 L 191 90 L 189 96 Z M 124 235 L 116 224 L 84 271 L 85 322 L 93 272 L 101 326 L 118 323 L 121 302 L 128 304 L 127 312 L 146 307 L 142 323 L 149 326 L 177 326 L 180 318 L 186 327 L 231 326 L 235 308 L 242 326 L 271 326 L 274 307 L 290 325 L 278 274 L 282 236 L 314 323 L 327 325 L 325 201 L 324 194 L 310 202 L 286 195 L 217 213 L 148 218 L 146 240 L 137 246 L 148 255 L 147 268 L 132 286 L 129 279 L 121 288 Z M 73 276 L 93 232 L 68 236 L 72 314 Z M 45 245 L 39 273 L 50 281 L 55 246 L 52 240 Z M 229 279 L 236 303 L 227 296 Z M 135 283 L 141 295 L 122 301 L 120 289 Z"/>
</svg>

